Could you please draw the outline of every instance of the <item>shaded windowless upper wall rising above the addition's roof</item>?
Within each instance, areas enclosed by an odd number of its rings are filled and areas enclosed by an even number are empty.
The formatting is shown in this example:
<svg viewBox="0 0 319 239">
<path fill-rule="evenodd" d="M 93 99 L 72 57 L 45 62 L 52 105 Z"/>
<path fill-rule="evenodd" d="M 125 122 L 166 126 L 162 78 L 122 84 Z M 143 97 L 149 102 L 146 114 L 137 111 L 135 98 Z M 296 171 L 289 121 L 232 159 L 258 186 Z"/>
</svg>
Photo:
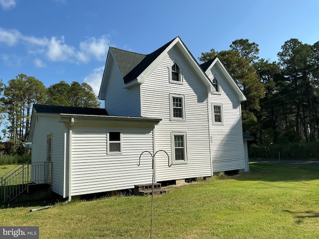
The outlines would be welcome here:
<svg viewBox="0 0 319 239">
<path fill-rule="evenodd" d="M 105 109 L 110 116 L 141 116 L 140 86 L 125 89 L 122 75 L 116 64 L 106 92 Z"/>
</svg>

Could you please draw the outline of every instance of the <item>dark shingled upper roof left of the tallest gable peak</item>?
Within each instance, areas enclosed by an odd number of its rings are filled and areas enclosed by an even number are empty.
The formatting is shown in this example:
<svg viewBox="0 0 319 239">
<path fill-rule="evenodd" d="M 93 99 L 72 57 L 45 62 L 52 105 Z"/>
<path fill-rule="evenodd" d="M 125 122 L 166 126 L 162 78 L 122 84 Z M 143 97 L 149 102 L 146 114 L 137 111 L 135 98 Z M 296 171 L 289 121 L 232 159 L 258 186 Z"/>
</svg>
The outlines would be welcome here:
<svg viewBox="0 0 319 239">
<path fill-rule="evenodd" d="M 110 47 L 118 63 L 124 83 L 128 83 L 136 79 L 155 59 L 172 43 L 173 40 L 152 52 L 144 55 L 135 52 L 125 51 L 118 48 Z"/>
</svg>

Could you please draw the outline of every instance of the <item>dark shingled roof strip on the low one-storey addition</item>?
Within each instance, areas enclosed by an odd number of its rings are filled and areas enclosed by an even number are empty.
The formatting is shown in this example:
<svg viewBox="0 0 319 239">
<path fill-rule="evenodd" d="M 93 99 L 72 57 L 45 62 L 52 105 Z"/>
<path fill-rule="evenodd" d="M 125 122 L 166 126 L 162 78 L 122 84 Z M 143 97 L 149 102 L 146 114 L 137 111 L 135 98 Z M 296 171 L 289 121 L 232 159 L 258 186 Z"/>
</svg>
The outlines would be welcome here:
<svg viewBox="0 0 319 239">
<path fill-rule="evenodd" d="M 71 114 L 71 115 L 90 115 L 90 116 L 108 116 L 109 115 L 107 111 L 102 108 L 33 105 L 33 109 L 36 113 L 45 113 L 45 114 Z"/>
</svg>

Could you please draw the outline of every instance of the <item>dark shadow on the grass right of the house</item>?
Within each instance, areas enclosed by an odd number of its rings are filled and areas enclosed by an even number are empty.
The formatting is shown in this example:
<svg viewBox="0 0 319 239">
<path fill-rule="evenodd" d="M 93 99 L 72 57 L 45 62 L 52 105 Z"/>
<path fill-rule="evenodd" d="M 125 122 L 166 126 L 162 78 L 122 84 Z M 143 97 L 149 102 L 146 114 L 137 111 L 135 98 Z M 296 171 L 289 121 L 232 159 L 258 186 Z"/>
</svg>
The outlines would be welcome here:
<svg viewBox="0 0 319 239">
<path fill-rule="evenodd" d="M 319 179 L 319 167 L 299 164 L 279 164 L 270 162 L 251 162 L 250 172 L 237 180 L 266 182 L 307 182 Z M 319 186 L 319 185 L 318 185 Z"/>
</svg>

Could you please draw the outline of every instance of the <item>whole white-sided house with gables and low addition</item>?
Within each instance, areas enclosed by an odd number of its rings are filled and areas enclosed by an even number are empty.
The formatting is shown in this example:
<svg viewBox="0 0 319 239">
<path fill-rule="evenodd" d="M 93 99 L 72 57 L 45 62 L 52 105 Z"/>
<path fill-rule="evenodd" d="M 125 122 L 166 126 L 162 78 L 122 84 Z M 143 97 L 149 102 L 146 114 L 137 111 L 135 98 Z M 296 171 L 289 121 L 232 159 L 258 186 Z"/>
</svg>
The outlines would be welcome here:
<svg viewBox="0 0 319 239">
<path fill-rule="evenodd" d="M 199 65 L 179 37 L 148 55 L 110 47 L 99 99 L 105 109 L 33 107 L 32 162 L 52 162 L 63 197 L 151 183 L 144 151 L 169 156 L 156 155 L 156 182 L 249 171 L 245 96 L 218 58 Z"/>
</svg>

